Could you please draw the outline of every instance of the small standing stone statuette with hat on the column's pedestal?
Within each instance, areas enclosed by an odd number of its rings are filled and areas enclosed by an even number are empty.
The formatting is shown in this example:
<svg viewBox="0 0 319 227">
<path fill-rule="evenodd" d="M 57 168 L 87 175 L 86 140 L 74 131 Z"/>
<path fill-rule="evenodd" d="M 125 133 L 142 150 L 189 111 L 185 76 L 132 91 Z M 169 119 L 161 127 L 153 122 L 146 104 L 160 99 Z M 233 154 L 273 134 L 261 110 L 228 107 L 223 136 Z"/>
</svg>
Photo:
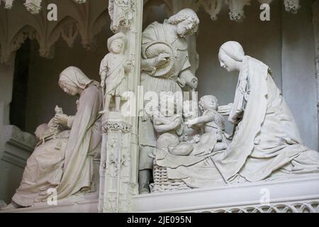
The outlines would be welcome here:
<svg viewBox="0 0 319 227">
<path fill-rule="evenodd" d="M 101 61 L 100 76 L 103 89 L 104 110 L 107 114 L 113 96 L 116 101 L 116 112 L 120 111 L 121 96 L 127 91 L 126 74 L 131 70 L 132 62 L 125 57 L 128 40 L 123 33 L 117 33 L 108 39 L 108 54 Z"/>
</svg>

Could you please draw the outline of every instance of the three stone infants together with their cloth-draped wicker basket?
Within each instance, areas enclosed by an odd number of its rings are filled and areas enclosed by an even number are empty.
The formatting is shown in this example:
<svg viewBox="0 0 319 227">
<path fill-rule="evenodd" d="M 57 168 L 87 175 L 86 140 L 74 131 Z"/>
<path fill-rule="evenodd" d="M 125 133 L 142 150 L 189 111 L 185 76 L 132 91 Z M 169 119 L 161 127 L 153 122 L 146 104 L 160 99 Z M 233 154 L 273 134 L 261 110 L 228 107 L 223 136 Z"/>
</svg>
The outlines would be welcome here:
<svg viewBox="0 0 319 227">
<path fill-rule="evenodd" d="M 213 97 L 214 99 L 207 99 L 207 97 Z M 193 118 L 197 115 L 197 113 L 195 114 L 196 108 L 189 111 L 188 107 L 192 103 L 191 101 L 184 102 L 183 112 L 183 115 L 189 118 L 189 126 L 184 126 L 184 121 L 176 110 L 172 117 L 156 116 L 156 118 L 153 118 L 155 131 L 157 131 L 159 137 L 154 152 L 154 183 L 151 184 L 151 192 L 225 185 L 211 159 L 216 153 L 223 152 L 227 146 L 226 143 L 223 143 L 223 132 L 218 138 L 221 130 L 218 126 L 223 124 L 223 121 L 216 118 L 220 114 L 215 111 L 215 115 L 208 118 L 208 115 L 212 115 L 208 111 L 213 112 L 212 104 L 217 109 L 217 102 L 215 104 L 212 100 L 216 101 L 216 98 L 214 96 L 204 96 L 201 100 L 205 102 L 206 111 L 206 116 L 201 117 L 206 119 L 204 121 L 206 126 L 203 127 L 205 130 L 201 135 L 196 133 L 198 133 L 198 128 L 203 126 L 203 123 L 199 121 L 201 118 Z M 163 111 L 162 107 L 159 112 L 167 113 L 167 111 Z M 198 125 L 195 127 L 197 121 Z M 179 140 L 181 133 L 183 136 Z M 223 146 L 218 147 L 220 144 Z"/>
</svg>

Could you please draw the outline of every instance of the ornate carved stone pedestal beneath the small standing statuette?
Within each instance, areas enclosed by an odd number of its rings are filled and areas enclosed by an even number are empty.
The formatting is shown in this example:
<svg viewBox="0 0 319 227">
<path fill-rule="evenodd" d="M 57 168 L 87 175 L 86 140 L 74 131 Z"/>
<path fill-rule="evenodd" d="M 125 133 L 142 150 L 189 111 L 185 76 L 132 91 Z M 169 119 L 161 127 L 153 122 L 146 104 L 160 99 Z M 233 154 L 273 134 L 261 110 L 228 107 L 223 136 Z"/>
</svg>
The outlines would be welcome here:
<svg viewBox="0 0 319 227">
<path fill-rule="evenodd" d="M 130 171 L 131 126 L 116 112 L 103 123 L 99 212 L 128 212 L 132 192 Z"/>
</svg>

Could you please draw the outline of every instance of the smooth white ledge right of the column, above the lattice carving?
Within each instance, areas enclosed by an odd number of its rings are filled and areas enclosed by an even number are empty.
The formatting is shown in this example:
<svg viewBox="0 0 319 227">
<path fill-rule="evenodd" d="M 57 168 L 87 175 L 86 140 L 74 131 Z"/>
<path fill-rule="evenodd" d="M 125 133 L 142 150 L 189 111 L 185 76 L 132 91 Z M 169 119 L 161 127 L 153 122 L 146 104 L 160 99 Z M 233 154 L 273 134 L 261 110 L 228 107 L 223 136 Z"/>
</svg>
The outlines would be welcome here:
<svg viewBox="0 0 319 227">
<path fill-rule="evenodd" d="M 269 192 L 269 204 L 260 204 Z M 229 187 L 148 194 L 133 198 L 134 212 L 203 212 L 227 211 L 231 207 L 291 206 L 319 201 L 319 177 L 295 181 L 234 184 Z M 318 208 L 313 211 L 319 212 Z"/>
</svg>

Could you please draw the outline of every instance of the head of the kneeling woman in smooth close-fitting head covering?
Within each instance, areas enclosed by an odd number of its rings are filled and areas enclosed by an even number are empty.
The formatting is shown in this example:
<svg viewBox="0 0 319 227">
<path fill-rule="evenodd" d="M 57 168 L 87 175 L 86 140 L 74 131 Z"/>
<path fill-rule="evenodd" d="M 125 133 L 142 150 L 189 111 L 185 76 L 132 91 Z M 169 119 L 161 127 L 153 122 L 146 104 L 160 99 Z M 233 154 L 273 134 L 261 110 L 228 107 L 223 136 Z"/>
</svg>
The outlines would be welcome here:
<svg viewBox="0 0 319 227">
<path fill-rule="evenodd" d="M 238 69 L 238 63 L 242 62 L 245 57 L 244 49 L 240 43 L 229 41 L 224 43 L 218 53 L 220 67 L 223 67 L 228 72 L 233 72 Z"/>
</svg>

